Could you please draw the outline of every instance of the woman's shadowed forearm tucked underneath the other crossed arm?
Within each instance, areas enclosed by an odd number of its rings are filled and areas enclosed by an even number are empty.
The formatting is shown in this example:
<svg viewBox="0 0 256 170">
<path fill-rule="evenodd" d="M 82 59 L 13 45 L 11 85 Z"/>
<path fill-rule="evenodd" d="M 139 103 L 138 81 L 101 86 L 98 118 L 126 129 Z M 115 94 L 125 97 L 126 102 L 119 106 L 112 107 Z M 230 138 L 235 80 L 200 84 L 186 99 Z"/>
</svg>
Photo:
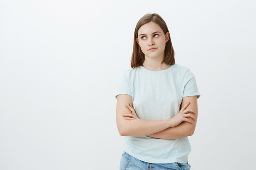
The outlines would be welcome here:
<svg viewBox="0 0 256 170">
<path fill-rule="evenodd" d="M 188 122 L 182 122 L 178 126 L 166 128 L 162 131 L 147 135 L 148 137 L 159 139 L 177 139 L 191 136 L 191 126 Z"/>
</svg>

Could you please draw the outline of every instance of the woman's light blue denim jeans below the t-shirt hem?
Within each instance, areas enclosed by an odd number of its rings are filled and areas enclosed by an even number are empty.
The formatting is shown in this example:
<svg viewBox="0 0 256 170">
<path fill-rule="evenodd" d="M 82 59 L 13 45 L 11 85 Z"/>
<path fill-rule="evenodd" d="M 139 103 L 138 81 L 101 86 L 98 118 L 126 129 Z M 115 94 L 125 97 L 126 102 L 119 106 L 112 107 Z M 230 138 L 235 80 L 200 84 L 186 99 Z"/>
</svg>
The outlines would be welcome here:
<svg viewBox="0 0 256 170">
<path fill-rule="evenodd" d="M 189 163 L 149 163 L 132 157 L 125 151 L 120 161 L 120 170 L 190 170 Z"/>
</svg>

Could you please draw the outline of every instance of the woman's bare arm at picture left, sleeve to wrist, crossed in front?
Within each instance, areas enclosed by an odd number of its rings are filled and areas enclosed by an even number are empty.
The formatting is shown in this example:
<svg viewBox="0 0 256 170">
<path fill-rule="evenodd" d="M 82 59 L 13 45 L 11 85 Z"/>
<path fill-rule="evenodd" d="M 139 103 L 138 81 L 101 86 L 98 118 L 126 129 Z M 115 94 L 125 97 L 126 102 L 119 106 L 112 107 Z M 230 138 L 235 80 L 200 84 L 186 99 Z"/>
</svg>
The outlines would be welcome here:
<svg viewBox="0 0 256 170">
<path fill-rule="evenodd" d="M 126 105 L 132 104 L 132 97 L 126 94 L 117 95 L 116 120 L 117 128 L 121 136 L 146 136 L 171 127 L 171 119 L 167 120 L 143 120 L 134 119 L 132 121 L 123 117 L 123 114 L 132 113 Z"/>
</svg>

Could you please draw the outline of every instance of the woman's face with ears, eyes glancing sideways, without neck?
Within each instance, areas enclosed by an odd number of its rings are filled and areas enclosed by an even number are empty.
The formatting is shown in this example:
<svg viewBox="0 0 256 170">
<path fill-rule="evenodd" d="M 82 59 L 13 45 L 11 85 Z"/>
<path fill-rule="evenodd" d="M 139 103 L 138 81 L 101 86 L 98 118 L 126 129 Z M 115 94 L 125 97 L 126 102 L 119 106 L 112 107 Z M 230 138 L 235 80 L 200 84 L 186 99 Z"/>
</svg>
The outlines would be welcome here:
<svg viewBox="0 0 256 170">
<path fill-rule="evenodd" d="M 164 35 L 159 25 L 155 24 L 155 22 L 148 22 L 139 28 L 136 41 L 141 51 L 145 54 L 145 57 L 164 58 L 165 43 L 168 39 L 168 32 Z M 150 50 L 151 48 L 155 49 Z"/>
</svg>

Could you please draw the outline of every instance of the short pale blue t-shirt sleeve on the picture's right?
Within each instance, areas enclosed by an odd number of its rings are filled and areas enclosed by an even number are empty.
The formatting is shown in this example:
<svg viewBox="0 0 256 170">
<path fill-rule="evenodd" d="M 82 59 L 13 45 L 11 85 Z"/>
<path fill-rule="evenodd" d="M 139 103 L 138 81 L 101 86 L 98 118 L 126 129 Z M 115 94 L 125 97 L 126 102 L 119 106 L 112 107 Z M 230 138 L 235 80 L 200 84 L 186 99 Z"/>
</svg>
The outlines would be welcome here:
<svg viewBox="0 0 256 170">
<path fill-rule="evenodd" d="M 183 91 L 183 97 L 187 96 L 197 96 L 200 97 L 200 93 L 198 92 L 198 86 L 196 84 L 194 74 L 189 70 L 186 71 L 186 80 Z"/>
</svg>

